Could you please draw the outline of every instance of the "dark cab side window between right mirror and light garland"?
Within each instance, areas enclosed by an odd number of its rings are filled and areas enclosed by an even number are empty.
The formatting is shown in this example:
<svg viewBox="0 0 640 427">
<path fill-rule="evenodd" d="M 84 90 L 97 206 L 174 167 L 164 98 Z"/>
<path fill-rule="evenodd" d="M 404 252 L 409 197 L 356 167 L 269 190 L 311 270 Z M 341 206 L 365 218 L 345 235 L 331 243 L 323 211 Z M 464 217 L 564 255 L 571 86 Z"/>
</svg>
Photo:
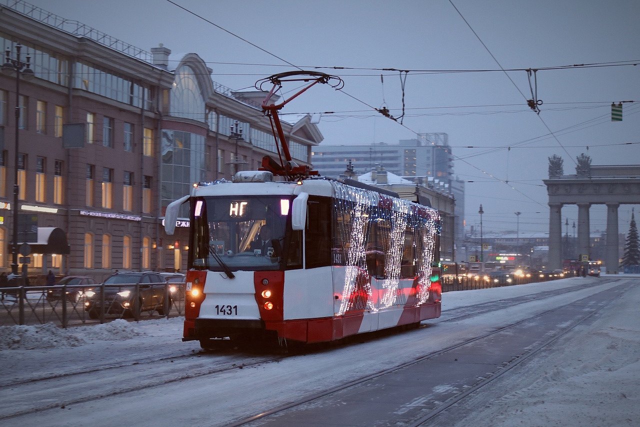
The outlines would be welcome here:
<svg viewBox="0 0 640 427">
<path fill-rule="evenodd" d="M 307 268 L 331 264 L 331 203 L 326 197 L 309 197 L 305 256 Z"/>
</svg>

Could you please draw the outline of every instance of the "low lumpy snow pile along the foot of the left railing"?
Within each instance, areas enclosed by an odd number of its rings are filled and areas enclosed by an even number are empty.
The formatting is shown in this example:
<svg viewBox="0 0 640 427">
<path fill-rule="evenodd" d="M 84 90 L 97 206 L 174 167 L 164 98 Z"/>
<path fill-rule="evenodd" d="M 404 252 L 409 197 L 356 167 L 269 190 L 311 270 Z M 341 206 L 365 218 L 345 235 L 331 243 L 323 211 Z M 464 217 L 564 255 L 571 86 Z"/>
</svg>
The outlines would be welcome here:
<svg viewBox="0 0 640 427">
<path fill-rule="evenodd" d="M 147 335 L 143 328 L 124 319 L 67 329 L 52 323 L 0 326 L 0 351 L 77 347 L 90 342 L 122 341 L 141 335 Z"/>
</svg>

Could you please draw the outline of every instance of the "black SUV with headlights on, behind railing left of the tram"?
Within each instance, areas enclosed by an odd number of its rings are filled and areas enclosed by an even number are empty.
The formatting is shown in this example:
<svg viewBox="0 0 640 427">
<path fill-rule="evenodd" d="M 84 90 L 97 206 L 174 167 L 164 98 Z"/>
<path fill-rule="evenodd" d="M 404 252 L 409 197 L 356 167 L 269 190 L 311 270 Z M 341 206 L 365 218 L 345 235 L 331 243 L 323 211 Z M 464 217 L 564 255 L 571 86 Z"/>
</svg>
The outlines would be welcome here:
<svg viewBox="0 0 640 427">
<path fill-rule="evenodd" d="M 157 311 L 164 315 L 164 296 L 167 294 L 166 281 L 158 272 L 117 272 L 104 281 L 104 313 L 138 317 L 143 311 Z M 100 287 L 93 292 L 85 292 L 84 310 L 89 317 L 100 317 Z M 136 301 L 136 296 L 138 297 Z M 171 309 L 172 298 L 168 296 Z"/>
</svg>

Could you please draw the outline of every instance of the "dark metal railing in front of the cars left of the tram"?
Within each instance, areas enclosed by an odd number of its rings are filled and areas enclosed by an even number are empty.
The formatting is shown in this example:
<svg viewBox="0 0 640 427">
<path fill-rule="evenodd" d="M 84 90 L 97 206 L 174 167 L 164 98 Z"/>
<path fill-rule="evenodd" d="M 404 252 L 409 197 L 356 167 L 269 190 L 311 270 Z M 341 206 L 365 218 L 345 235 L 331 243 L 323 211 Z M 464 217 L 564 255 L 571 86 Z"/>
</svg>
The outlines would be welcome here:
<svg viewBox="0 0 640 427">
<path fill-rule="evenodd" d="M 184 283 L 19 286 L 0 292 L 0 326 L 52 322 L 67 328 L 184 315 Z"/>
</svg>

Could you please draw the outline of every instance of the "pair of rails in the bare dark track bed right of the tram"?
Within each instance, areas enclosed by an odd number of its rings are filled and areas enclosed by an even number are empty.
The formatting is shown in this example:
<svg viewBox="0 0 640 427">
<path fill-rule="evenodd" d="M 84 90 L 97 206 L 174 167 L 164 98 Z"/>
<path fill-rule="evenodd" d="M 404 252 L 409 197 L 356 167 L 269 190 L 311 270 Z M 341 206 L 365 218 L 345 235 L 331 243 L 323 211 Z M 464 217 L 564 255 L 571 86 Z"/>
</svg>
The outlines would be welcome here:
<svg viewBox="0 0 640 427">
<path fill-rule="evenodd" d="M 626 285 L 627 287 L 630 285 Z M 585 289 L 584 286 L 580 286 L 580 289 Z M 534 346 L 532 346 L 529 349 L 526 349 L 525 351 L 523 351 L 521 354 L 515 355 L 513 356 L 513 358 L 511 358 L 511 360 L 509 360 L 506 363 L 503 363 L 502 366 L 500 367 L 499 371 L 497 371 L 497 373 L 493 373 L 493 374 L 488 374 L 485 377 L 479 377 L 477 382 L 474 383 L 473 385 L 470 385 L 470 387 L 468 387 L 466 390 L 459 392 L 458 394 L 456 394 L 455 396 L 453 396 L 452 398 L 447 399 L 446 401 L 444 401 L 444 403 L 436 406 L 436 408 L 429 410 L 426 414 L 420 414 L 419 417 L 412 419 L 408 422 L 408 424 L 406 425 L 410 425 L 412 427 L 417 427 L 420 426 L 424 423 L 426 423 L 427 421 L 429 421 L 430 419 L 433 419 L 434 417 L 436 417 L 438 414 L 440 414 L 441 412 L 443 412 L 444 410 L 447 410 L 447 408 L 451 408 L 451 406 L 456 405 L 456 403 L 460 402 L 461 400 L 467 398 L 468 396 L 471 396 L 472 394 L 474 394 L 475 392 L 477 392 L 478 390 L 482 389 L 483 387 L 486 387 L 487 385 L 489 385 L 490 383 L 492 383 L 493 381 L 495 381 L 497 378 L 499 378 L 500 376 L 502 376 L 504 373 L 509 372 L 511 369 L 513 369 L 514 367 L 516 367 L 517 365 L 521 364 L 522 362 L 524 362 L 525 360 L 527 360 L 528 358 L 530 358 L 531 356 L 536 355 L 537 353 L 539 353 L 541 350 L 545 349 L 546 347 L 550 346 L 551 344 L 553 344 L 554 342 L 556 342 L 557 340 L 561 339 L 562 337 L 564 337 L 567 333 L 569 333 L 570 331 L 572 331 L 574 328 L 576 328 L 577 326 L 579 326 L 580 324 L 584 323 L 585 321 L 587 321 L 588 319 L 590 319 L 591 317 L 593 317 L 594 315 L 600 313 L 605 307 L 609 306 L 616 298 L 613 297 L 611 299 L 609 299 L 606 303 L 598 306 L 598 308 L 596 308 L 595 310 L 590 310 L 586 315 L 582 315 L 579 318 L 573 320 L 572 322 L 570 322 L 570 324 L 568 326 L 566 326 L 565 328 L 563 328 L 562 330 L 558 331 L 557 333 L 554 333 L 554 335 L 552 337 L 549 337 L 548 339 L 543 340 L 542 342 L 538 342 L 536 344 L 534 344 Z M 518 300 L 520 299 L 520 297 L 516 297 L 513 298 L 511 300 Z M 506 300 L 509 301 L 509 300 Z M 581 301 L 581 300 L 578 300 Z M 425 362 L 429 359 L 435 358 L 436 356 L 441 356 L 441 355 L 445 355 L 446 353 L 450 353 L 454 350 L 458 350 L 458 349 L 462 349 L 465 346 L 468 346 L 470 344 L 474 344 L 477 342 L 481 342 L 482 340 L 486 340 L 490 337 L 492 337 L 493 335 L 497 335 L 499 333 L 503 333 L 505 331 L 509 331 L 509 330 L 513 330 L 516 327 L 525 324 L 526 322 L 531 322 L 534 321 L 536 319 L 538 319 L 539 317 L 545 315 L 545 314 L 552 314 L 554 312 L 557 312 L 559 310 L 562 310 L 563 308 L 566 308 L 568 306 L 571 306 L 573 304 L 575 304 L 576 301 L 572 301 L 571 303 L 565 304 L 565 305 L 561 305 L 561 306 L 556 306 L 554 308 L 551 308 L 550 310 L 545 310 L 544 312 L 538 312 L 535 315 L 526 317 L 525 319 L 520 319 L 519 321 L 513 322 L 511 324 L 508 324 L 506 326 L 502 326 L 500 328 L 497 328 L 495 330 L 492 331 L 487 331 L 486 333 L 482 334 L 482 335 L 478 335 L 476 337 L 467 339 L 467 340 L 463 340 L 461 342 L 458 342 L 456 344 L 453 344 L 451 346 L 445 347 L 443 349 L 439 349 L 437 351 L 433 351 L 431 353 L 428 353 L 426 355 L 422 355 L 419 356 L 413 360 L 410 360 L 408 362 L 404 362 L 402 364 L 398 364 L 395 365 L 393 367 L 389 367 L 387 369 L 382 369 L 380 371 L 377 371 L 376 373 L 372 373 L 372 374 L 367 374 L 365 376 L 361 376 L 360 378 L 356 378 L 355 380 L 351 380 L 348 381 L 346 383 L 342 383 L 340 385 L 337 385 L 335 387 L 332 387 L 330 389 L 327 390 L 322 390 L 321 392 L 317 392 L 314 394 L 309 394 L 308 396 L 304 396 L 303 398 L 297 399 L 295 401 L 291 401 L 288 403 L 284 403 L 282 405 L 278 405 L 275 406 L 269 410 L 260 412 L 260 414 L 255 414 L 255 415 L 251 415 L 250 417 L 245 417 L 243 419 L 239 419 L 236 420 L 232 423 L 226 424 L 228 427 L 237 427 L 237 426 L 243 426 L 246 424 L 255 424 L 255 423 L 260 423 L 260 422 L 265 422 L 268 421 L 269 417 L 273 417 L 274 415 L 280 415 L 288 410 L 296 410 L 296 408 L 300 408 L 301 406 L 307 404 L 307 403 L 311 403 L 313 401 L 319 401 L 319 399 L 323 399 L 323 398 L 328 398 L 330 396 L 336 395 L 339 392 L 342 392 L 344 390 L 348 390 L 348 389 L 352 389 L 355 388 L 358 385 L 363 385 L 364 383 L 367 383 L 367 381 L 371 381 L 371 380 L 375 380 L 376 378 L 380 378 L 389 374 L 393 374 L 396 373 L 397 371 L 400 371 L 401 369 L 407 368 L 407 367 L 412 367 L 412 365 L 417 365 L 420 364 L 422 362 Z M 513 307 L 513 305 L 506 305 L 503 308 L 511 308 Z M 475 315 L 480 315 L 482 313 L 476 313 Z M 457 317 L 455 319 L 463 319 L 467 317 L 465 316 L 460 316 Z M 449 321 L 453 321 L 454 318 L 449 319 Z M 275 419 L 277 420 L 277 419 Z M 277 424 L 278 421 L 275 421 L 275 423 Z M 402 425 L 405 425 L 404 423 L 401 423 Z M 260 424 L 257 424 L 260 425 Z"/>
</svg>

